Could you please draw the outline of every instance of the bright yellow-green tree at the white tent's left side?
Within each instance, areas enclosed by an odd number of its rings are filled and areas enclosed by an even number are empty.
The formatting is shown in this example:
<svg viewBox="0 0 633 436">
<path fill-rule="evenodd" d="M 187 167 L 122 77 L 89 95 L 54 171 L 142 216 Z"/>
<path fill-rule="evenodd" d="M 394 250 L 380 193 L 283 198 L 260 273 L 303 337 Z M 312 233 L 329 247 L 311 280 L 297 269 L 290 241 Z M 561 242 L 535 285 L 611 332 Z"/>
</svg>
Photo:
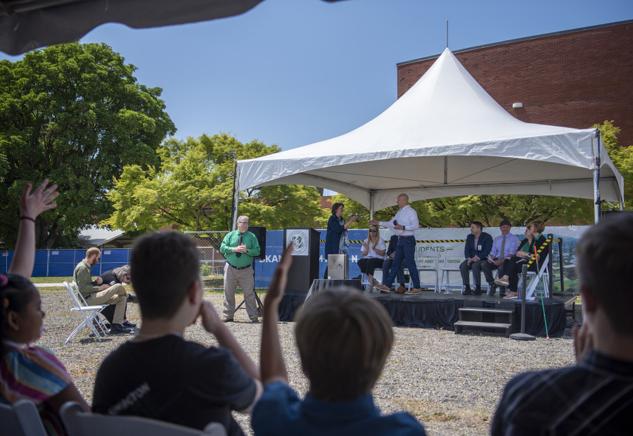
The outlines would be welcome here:
<svg viewBox="0 0 633 436">
<path fill-rule="evenodd" d="M 279 146 L 241 143 L 222 133 L 160 146 L 160 169 L 124 167 L 107 197 L 115 212 L 101 224 L 125 231 L 177 224 L 185 231 L 228 230 L 236 160 L 277 153 Z M 322 212 L 307 186 L 264 186 L 240 193 L 239 213 L 267 229 L 311 225 Z"/>
</svg>

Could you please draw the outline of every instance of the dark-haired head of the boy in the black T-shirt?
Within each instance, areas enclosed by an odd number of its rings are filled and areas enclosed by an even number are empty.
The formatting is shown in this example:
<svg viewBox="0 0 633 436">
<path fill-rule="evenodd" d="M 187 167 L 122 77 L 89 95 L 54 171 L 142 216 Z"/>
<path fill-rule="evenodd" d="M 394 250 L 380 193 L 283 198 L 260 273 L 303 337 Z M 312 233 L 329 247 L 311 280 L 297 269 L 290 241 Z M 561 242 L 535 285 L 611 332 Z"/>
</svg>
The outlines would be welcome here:
<svg viewBox="0 0 633 436">
<path fill-rule="evenodd" d="M 152 233 L 134 244 L 130 273 L 143 318 L 170 319 L 200 280 L 200 252 L 181 233 Z"/>
</svg>

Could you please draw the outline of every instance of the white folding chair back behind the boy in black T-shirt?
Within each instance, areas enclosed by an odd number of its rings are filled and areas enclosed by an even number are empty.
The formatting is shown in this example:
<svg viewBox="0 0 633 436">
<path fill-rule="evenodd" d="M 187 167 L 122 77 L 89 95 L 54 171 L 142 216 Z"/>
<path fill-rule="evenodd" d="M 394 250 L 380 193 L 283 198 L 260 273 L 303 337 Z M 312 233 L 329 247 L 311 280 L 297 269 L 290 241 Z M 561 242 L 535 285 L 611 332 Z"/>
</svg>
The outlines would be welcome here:
<svg viewBox="0 0 633 436">
<path fill-rule="evenodd" d="M 68 436 L 112 436 L 129 434 L 135 436 L 226 436 L 224 425 L 209 423 L 204 430 L 157 421 L 140 416 L 110 416 L 86 413 L 77 402 L 61 406 L 59 414 Z"/>
</svg>

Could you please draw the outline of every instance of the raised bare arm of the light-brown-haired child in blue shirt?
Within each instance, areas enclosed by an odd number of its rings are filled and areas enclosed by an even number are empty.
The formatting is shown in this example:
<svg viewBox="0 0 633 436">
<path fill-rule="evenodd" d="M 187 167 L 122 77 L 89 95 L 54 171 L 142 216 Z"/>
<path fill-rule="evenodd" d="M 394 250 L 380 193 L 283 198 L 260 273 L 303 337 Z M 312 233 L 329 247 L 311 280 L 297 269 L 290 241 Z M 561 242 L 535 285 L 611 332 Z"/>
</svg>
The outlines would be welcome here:
<svg viewBox="0 0 633 436">
<path fill-rule="evenodd" d="M 288 385 L 288 372 L 286 372 L 286 364 L 283 361 L 283 354 L 281 354 L 277 323 L 279 322 L 279 302 L 283 297 L 283 290 L 286 289 L 288 269 L 293 263 L 292 252 L 293 243 L 290 243 L 286 250 L 283 250 L 279 266 L 275 270 L 264 300 L 264 325 L 262 326 L 262 350 L 260 352 L 260 368 L 264 385 L 276 381 Z"/>
</svg>

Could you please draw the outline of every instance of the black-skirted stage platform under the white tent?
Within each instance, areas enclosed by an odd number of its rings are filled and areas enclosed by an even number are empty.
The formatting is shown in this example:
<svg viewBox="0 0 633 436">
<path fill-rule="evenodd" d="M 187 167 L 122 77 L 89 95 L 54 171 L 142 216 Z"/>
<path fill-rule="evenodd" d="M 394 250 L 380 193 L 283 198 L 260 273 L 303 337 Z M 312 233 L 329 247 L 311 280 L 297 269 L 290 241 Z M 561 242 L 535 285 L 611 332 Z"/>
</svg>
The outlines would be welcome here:
<svg viewBox="0 0 633 436">
<path fill-rule="evenodd" d="M 499 293 L 490 295 L 461 295 L 459 293 L 444 294 L 433 291 L 423 291 L 419 295 L 404 295 L 397 293 L 381 294 L 365 292 L 365 295 L 376 298 L 383 304 L 395 326 L 399 327 L 429 327 L 453 330 L 453 324 L 459 319 L 459 308 L 466 300 L 478 300 L 482 307 L 499 307 L 499 302 L 515 302 L 515 326 L 520 331 L 521 302 L 519 300 L 505 300 Z M 307 293 L 286 293 L 279 306 L 279 320 L 293 321 L 295 311 L 305 301 Z M 554 295 L 544 298 L 547 329 L 550 338 L 559 338 L 565 332 L 567 312 L 565 306 L 570 306 L 576 300 L 574 295 Z M 487 321 L 487 319 L 483 319 Z M 541 299 L 527 302 L 525 307 L 525 333 L 534 336 L 545 336 L 545 323 Z"/>
</svg>

